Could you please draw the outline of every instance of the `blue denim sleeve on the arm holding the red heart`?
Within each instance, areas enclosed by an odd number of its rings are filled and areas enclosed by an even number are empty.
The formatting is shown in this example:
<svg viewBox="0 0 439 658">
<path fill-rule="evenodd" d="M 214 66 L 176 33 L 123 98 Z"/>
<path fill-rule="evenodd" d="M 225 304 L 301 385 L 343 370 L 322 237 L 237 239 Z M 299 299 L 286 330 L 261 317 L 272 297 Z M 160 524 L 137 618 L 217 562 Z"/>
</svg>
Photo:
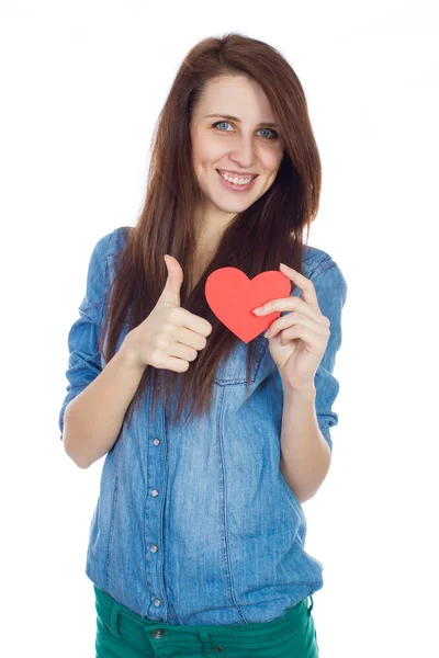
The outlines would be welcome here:
<svg viewBox="0 0 439 658">
<path fill-rule="evenodd" d="M 339 393 L 339 382 L 333 372 L 336 355 L 341 345 L 341 311 L 346 303 L 348 286 L 341 270 L 328 257 L 311 276 L 317 295 L 322 314 L 330 321 L 330 336 L 325 353 L 315 374 L 316 387 L 316 415 L 318 427 L 333 452 L 330 428 L 338 423 L 338 415 L 334 410 L 334 402 Z"/>
</svg>

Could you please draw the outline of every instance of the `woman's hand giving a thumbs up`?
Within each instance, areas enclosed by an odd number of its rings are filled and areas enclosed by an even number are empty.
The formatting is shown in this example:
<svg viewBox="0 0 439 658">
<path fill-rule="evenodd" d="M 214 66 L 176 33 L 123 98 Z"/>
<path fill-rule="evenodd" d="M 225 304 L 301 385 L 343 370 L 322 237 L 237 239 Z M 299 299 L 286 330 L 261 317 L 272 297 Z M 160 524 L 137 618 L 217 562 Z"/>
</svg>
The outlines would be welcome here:
<svg viewBox="0 0 439 658">
<path fill-rule="evenodd" d="M 151 313 L 125 337 L 121 350 L 139 367 L 183 373 L 206 345 L 212 325 L 204 318 L 180 307 L 183 270 L 173 256 L 165 254 L 168 279 Z"/>
</svg>

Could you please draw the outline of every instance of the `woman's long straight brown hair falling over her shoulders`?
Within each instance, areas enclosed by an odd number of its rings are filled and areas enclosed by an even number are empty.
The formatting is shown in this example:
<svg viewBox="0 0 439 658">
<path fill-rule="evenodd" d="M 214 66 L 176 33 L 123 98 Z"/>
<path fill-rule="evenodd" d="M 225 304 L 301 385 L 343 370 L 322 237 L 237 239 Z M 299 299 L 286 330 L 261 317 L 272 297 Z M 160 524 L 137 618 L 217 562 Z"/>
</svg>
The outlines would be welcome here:
<svg viewBox="0 0 439 658">
<path fill-rule="evenodd" d="M 263 89 L 284 140 L 283 159 L 270 189 L 226 227 L 214 257 L 189 295 L 188 277 L 183 279 L 181 307 L 213 327 L 206 347 L 183 373 L 147 365 L 127 409 L 128 422 L 148 386 L 153 386 L 150 415 L 157 397 L 161 396 L 167 405 L 176 385 L 179 398 L 173 420 L 188 401 L 192 402 L 189 416 L 209 410 L 216 367 L 239 340 L 206 303 L 204 284 L 211 272 L 234 266 L 252 279 L 262 271 L 279 270 L 283 262 L 302 273 L 303 230 L 306 226 L 309 231 L 317 214 L 322 183 L 320 159 L 302 84 L 284 57 L 261 41 L 240 34 L 205 38 L 184 58 L 156 125 L 143 209 L 136 226 L 127 231 L 126 247 L 108 293 L 101 352 L 108 326 L 106 362 L 116 351 L 123 324 L 127 322 L 130 330 L 137 327 L 155 307 L 168 275 L 165 253 L 173 256 L 183 272 L 193 263 L 196 245 L 192 220 L 194 208 L 202 203 L 202 192 L 192 166 L 189 126 L 205 83 L 227 75 L 246 75 Z M 249 375 L 255 342 L 248 343 Z"/>
</svg>

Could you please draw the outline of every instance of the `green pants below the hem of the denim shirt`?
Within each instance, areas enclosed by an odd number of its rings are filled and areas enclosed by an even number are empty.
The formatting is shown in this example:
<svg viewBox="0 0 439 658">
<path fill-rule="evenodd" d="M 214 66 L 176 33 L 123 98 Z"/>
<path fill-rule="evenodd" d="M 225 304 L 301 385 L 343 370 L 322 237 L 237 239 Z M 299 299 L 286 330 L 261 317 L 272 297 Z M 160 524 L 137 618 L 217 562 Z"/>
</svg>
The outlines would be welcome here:
<svg viewBox="0 0 439 658">
<path fill-rule="evenodd" d="M 93 587 L 97 658 L 318 658 L 312 597 L 309 608 L 303 599 L 271 622 L 176 626 L 144 619 Z"/>
</svg>

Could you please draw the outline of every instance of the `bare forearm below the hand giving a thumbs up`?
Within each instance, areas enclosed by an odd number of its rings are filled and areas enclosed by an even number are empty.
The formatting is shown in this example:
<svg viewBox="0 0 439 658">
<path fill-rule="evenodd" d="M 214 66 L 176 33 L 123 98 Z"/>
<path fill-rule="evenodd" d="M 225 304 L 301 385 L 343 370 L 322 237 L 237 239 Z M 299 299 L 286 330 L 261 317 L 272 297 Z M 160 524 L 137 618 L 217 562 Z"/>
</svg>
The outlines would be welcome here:
<svg viewBox="0 0 439 658">
<path fill-rule="evenodd" d="M 144 370 L 122 345 L 98 377 L 67 405 L 65 450 L 80 468 L 88 468 L 113 447 Z"/>
</svg>

